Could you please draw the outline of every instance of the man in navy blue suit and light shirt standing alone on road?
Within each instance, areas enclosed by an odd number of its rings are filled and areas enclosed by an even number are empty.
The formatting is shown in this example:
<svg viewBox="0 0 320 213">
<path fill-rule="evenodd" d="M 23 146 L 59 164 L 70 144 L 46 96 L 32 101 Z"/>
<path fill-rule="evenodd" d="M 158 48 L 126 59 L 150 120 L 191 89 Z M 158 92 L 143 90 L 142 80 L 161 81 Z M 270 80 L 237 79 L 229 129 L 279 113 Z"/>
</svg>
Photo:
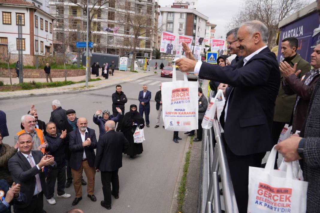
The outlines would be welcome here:
<svg viewBox="0 0 320 213">
<path fill-rule="evenodd" d="M 148 86 L 144 84 L 142 86 L 142 91 L 139 92 L 139 113 L 143 117 L 146 116 L 146 124 L 147 127 L 149 127 L 150 121 L 149 121 L 149 114 L 150 114 L 150 99 L 151 99 L 151 92 L 148 90 Z"/>
</svg>

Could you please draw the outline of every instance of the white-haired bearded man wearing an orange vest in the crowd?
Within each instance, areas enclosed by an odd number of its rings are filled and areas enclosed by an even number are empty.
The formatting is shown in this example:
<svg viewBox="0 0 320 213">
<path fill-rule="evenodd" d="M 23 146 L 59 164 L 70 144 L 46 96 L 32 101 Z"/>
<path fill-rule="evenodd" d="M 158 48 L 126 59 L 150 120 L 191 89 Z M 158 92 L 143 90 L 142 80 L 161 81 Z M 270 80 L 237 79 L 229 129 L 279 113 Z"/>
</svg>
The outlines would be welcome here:
<svg viewBox="0 0 320 213">
<path fill-rule="evenodd" d="M 47 139 L 44 137 L 42 130 L 36 128 L 35 117 L 32 115 L 24 115 L 21 117 L 23 130 L 14 136 L 14 143 L 17 143 L 18 138 L 23 133 L 29 133 L 34 141 L 32 150 L 41 150 L 47 145 Z"/>
</svg>

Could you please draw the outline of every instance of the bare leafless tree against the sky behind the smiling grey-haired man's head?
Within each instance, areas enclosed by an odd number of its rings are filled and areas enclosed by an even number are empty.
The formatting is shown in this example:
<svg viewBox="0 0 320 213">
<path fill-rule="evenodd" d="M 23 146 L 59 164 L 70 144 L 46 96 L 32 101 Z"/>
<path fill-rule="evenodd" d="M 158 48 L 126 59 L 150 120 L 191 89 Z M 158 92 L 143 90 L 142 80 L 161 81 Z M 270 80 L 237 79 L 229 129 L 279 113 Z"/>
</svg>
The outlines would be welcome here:
<svg viewBox="0 0 320 213">
<path fill-rule="evenodd" d="M 279 21 L 308 4 L 309 0 L 246 0 L 225 28 L 231 30 L 243 22 L 259 20 L 268 27 L 268 46 L 271 47 L 275 45 Z"/>
</svg>

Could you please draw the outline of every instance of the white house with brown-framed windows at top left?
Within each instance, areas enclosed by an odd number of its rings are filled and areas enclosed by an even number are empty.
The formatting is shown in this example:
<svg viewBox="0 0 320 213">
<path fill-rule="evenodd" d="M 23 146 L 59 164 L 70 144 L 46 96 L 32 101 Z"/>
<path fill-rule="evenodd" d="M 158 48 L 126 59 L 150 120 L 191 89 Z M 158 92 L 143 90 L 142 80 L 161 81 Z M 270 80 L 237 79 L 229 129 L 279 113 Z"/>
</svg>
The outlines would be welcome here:
<svg viewBox="0 0 320 213">
<path fill-rule="evenodd" d="M 18 60 L 18 16 L 22 17 L 23 63 L 33 66 L 36 55 L 52 54 L 53 16 L 23 0 L 0 0 L 0 13 L 0 46 L 11 47 L 11 62 Z"/>
</svg>

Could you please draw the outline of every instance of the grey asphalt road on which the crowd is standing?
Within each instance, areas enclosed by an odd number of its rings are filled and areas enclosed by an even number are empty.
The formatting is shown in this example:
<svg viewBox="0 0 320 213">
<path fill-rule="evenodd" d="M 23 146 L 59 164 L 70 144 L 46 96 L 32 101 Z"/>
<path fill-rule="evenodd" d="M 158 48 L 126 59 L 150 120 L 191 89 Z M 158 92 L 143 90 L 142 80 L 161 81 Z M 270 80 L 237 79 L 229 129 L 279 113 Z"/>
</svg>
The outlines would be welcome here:
<svg viewBox="0 0 320 213">
<path fill-rule="evenodd" d="M 182 74 L 178 72 L 178 80 L 182 80 Z M 172 131 L 161 128 L 155 129 L 156 124 L 156 102 L 154 97 L 161 82 L 171 81 L 171 78 L 161 78 L 160 74 L 146 77 L 134 82 L 127 82 L 122 85 L 122 90 L 128 98 L 125 110 L 129 110 L 130 104 L 139 105 L 138 95 L 142 85 L 147 84 L 148 90 L 152 92 L 150 110 L 150 128 L 145 127 L 145 138 L 143 142 L 143 153 L 134 160 L 129 156 L 123 156 L 123 167 L 119 169 L 120 193 L 119 199 L 112 197 L 112 212 L 169 212 L 172 202 L 172 194 L 177 181 L 179 167 L 187 136 L 180 132 L 179 144 L 172 142 Z M 30 106 L 36 106 L 40 120 L 48 122 L 50 118 L 51 102 L 58 99 L 62 108 L 76 110 L 77 117 L 86 117 L 89 121 L 88 127 L 96 130 L 98 138 L 99 129 L 92 121 L 92 116 L 98 109 L 112 110 L 111 95 L 115 87 L 104 88 L 95 91 L 81 92 L 75 94 L 25 97 L 10 100 L 1 100 L 0 109 L 7 115 L 7 126 L 10 136 L 5 137 L 3 142 L 14 145 L 14 135 L 20 131 L 20 118 L 26 114 Z M 162 119 L 161 119 L 162 122 Z M 86 180 L 85 174 L 84 179 Z M 104 212 L 107 209 L 100 206 L 103 200 L 100 172 L 95 176 L 95 192 L 97 202 L 92 202 L 86 195 L 87 187 L 83 186 L 83 199 L 76 205 L 76 208 L 84 212 Z M 73 185 L 66 188 L 71 198 L 54 198 L 57 203 L 50 205 L 44 199 L 44 209 L 48 213 L 66 212 L 73 209 L 71 203 L 75 198 Z"/>
</svg>

